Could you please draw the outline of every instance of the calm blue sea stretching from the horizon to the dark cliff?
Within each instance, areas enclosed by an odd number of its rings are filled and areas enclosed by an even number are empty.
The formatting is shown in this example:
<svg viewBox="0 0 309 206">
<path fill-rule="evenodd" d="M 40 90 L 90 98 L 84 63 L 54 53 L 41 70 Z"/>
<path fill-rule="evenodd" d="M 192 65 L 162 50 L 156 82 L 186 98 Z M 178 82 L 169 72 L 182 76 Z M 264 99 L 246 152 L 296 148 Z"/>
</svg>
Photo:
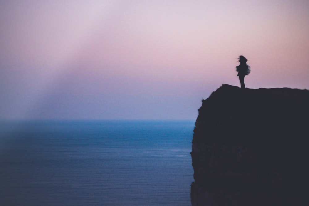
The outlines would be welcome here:
<svg viewBox="0 0 309 206">
<path fill-rule="evenodd" d="M 1 121 L 1 205 L 191 205 L 194 121 Z"/>
</svg>

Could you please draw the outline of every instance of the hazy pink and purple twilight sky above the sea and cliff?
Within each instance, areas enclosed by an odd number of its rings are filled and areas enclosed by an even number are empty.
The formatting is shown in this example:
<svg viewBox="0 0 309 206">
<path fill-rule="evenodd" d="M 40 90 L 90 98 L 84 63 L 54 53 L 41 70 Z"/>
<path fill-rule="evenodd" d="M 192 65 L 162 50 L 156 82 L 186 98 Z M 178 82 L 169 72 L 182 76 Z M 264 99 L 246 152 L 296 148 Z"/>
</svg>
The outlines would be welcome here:
<svg viewBox="0 0 309 206">
<path fill-rule="evenodd" d="M 222 84 L 309 89 L 307 0 L 0 1 L 0 119 L 192 119 Z"/>
</svg>

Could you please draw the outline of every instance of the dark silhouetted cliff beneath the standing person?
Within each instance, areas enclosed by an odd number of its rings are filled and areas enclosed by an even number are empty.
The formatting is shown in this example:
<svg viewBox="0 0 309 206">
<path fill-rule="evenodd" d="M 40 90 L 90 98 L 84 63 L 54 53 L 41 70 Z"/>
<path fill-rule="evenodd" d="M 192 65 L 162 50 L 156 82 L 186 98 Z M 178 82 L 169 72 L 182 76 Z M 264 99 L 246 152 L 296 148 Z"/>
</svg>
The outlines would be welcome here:
<svg viewBox="0 0 309 206">
<path fill-rule="evenodd" d="M 197 205 L 309 205 L 309 91 L 222 85 L 192 141 Z"/>
</svg>

